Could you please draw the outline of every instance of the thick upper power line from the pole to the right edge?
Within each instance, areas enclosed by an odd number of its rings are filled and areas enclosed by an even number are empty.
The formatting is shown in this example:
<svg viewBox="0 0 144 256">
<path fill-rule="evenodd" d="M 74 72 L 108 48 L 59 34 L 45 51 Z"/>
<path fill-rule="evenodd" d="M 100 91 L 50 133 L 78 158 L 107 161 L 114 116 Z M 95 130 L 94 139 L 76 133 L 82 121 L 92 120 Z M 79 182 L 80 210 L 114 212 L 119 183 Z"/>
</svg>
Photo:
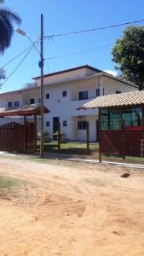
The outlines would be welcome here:
<svg viewBox="0 0 144 256">
<path fill-rule="evenodd" d="M 101 27 L 97 27 L 97 28 L 91 28 L 91 29 L 86 29 L 86 30 L 81 30 L 81 31 L 74 31 L 74 32 L 66 32 L 66 33 L 60 33 L 60 34 L 53 34 L 53 35 L 49 35 L 49 36 L 45 36 L 44 38 L 55 38 L 55 37 L 62 37 L 62 36 L 69 36 L 69 35 L 73 35 L 73 34 L 79 34 L 79 33 L 85 33 L 85 32 L 95 32 L 98 30 L 105 30 L 108 28 L 113 28 L 113 27 L 118 27 L 118 26 L 124 26 L 124 25 L 130 25 L 130 24 L 136 24 L 136 23 L 140 23 L 144 20 L 133 20 L 133 21 L 128 21 L 128 22 L 124 22 L 124 23 L 119 23 L 116 25 L 110 25 L 110 26 L 101 26 Z"/>
</svg>

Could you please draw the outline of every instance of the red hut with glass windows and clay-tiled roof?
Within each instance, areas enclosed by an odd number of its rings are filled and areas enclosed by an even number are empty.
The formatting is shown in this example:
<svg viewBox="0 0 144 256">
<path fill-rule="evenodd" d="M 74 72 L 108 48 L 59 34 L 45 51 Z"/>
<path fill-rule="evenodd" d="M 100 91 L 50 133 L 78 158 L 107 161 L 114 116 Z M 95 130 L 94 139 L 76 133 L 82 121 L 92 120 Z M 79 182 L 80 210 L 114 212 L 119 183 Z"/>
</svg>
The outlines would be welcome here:
<svg viewBox="0 0 144 256">
<path fill-rule="evenodd" d="M 100 153 L 143 156 L 144 90 L 100 96 L 78 109 L 99 108 Z"/>
</svg>

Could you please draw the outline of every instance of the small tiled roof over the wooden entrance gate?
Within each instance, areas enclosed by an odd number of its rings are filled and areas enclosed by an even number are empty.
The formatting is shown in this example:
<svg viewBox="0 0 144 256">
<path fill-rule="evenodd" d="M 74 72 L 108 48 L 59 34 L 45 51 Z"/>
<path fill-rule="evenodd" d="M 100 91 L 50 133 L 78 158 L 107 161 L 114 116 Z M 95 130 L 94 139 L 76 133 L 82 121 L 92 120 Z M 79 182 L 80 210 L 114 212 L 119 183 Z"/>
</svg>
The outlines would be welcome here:
<svg viewBox="0 0 144 256">
<path fill-rule="evenodd" d="M 44 107 L 43 112 L 49 113 L 49 109 Z M 28 115 L 40 115 L 40 114 L 41 114 L 41 104 L 31 104 L 31 105 L 25 105 L 25 106 L 15 107 L 15 108 L 0 108 L 0 117 L 14 116 L 14 115 L 28 116 Z"/>
</svg>

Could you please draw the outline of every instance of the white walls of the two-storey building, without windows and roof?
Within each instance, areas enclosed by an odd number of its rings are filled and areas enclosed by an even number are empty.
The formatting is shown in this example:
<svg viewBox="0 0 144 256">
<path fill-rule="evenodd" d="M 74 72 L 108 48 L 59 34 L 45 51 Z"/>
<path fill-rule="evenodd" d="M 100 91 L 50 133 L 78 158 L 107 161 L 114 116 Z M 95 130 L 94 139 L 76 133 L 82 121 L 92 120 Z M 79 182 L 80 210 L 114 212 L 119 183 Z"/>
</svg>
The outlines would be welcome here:
<svg viewBox="0 0 144 256">
<path fill-rule="evenodd" d="M 78 107 L 84 103 L 89 102 L 95 98 L 96 88 L 100 88 L 101 95 L 103 88 L 105 95 L 114 94 L 116 90 L 126 92 L 137 90 L 135 87 L 121 83 L 116 80 L 109 79 L 107 77 L 90 77 L 93 71 L 87 69 L 79 69 L 72 73 L 59 74 L 60 79 L 76 78 L 77 76 L 88 76 L 89 79 L 73 80 L 60 82 L 59 84 L 53 84 L 57 75 L 53 77 L 44 78 L 44 105 L 50 110 L 50 113 L 44 114 L 44 130 L 49 131 L 50 137 L 53 137 L 53 118 L 60 117 L 61 132 L 65 133 L 66 137 L 71 140 L 85 140 L 86 131 L 78 131 L 78 116 L 85 116 L 85 119 L 89 121 L 89 139 L 95 141 L 96 137 L 96 125 L 95 119 L 98 116 L 97 109 L 89 110 L 77 110 Z M 51 80 L 50 80 L 51 79 Z M 51 82 L 50 82 L 51 81 Z M 51 83 L 51 84 L 49 84 Z M 66 97 L 62 96 L 62 91 L 66 90 Z M 89 99 L 79 101 L 78 92 L 88 90 Z M 49 93 L 49 99 L 45 98 L 45 95 Z M 20 105 L 29 104 L 30 99 L 34 98 L 35 102 L 39 102 L 40 90 L 39 87 L 32 88 L 31 90 L 17 90 L 0 95 L 1 107 L 8 107 L 8 102 L 20 101 Z M 5 119 L 6 120 L 6 119 Z M 67 126 L 62 126 L 62 121 L 67 121 Z M 46 121 L 49 121 L 49 127 L 46 127 Z M 6 120 L 7 122 L 7 120 Z M 0 120 L 1 123 L 1 120 Z M 37 122 L 37 131 L 40 130 L 40 121 Z"/>
</svg>

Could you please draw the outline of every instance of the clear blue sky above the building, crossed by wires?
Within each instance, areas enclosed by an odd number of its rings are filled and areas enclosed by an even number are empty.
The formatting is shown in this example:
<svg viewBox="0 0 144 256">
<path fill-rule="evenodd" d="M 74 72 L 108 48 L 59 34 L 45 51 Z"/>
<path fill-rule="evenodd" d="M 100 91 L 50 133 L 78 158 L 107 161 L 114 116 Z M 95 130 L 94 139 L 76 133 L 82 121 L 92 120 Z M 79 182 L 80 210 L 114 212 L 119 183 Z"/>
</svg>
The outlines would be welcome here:
<svg viewBox="0 0 144 256">
<path fill-rule="evenodd" d="M 63 32 L 85 30 L 100 26 L 123 23 L 131 20 L 144 19 L 144 1 L 137 0 L 41 0 L 20 1 L 5 0 L 5 7 L 17 12 L 21 19 L 21 29 L 37 40 L 40 35 L 40 14 L 44 15 L 44 34 L 51 35 Z M 144 22 L 139 25 L 144 25 Z M 66 68 L 89 64 L 102 69 L 114 70 L 111 51 L 116 39 L 123 34 L 125 26 L 97 32 L 88 32 L 61 38 L 44 40 L 44 58 L 68 55 L 89 49 L 88 52 L 77 55 L 45 60 L 44 73 L 52 73 Z M 30 42 L 14 32 L 12 44 L 3 56 L 1 67 L 29 46 Z M 38 45 L 38 47 L 40 47 Z M 25 55 L 25 54 L 24 54 Z M 14 70 L 24 55 L 5 67 L 7 76 Z M 11 78 L 3 84 L 1 91 L 17 90 L 24 84 L 32 82 L 32 77 L 40 74 L 38 68 L 39 55 L 32 49 L 26 60 Z"/>
</svg>

